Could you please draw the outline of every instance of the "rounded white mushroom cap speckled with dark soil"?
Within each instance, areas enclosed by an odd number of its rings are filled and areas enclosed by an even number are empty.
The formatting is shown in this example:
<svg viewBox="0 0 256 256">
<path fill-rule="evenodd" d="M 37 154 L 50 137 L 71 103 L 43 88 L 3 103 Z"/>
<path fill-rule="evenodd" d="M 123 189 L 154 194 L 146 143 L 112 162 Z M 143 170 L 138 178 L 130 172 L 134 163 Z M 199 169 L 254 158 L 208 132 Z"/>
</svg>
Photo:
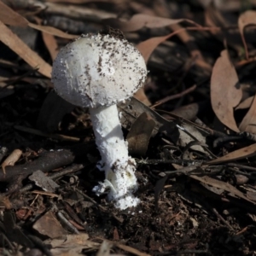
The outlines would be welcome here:
<svg viewBox="0 0 256 256">
<path fill-rule="evenodd" d="M 60 50 L 52 82 L 67 102 L 99 108 L 131 97 L 147 73 L 143 56 L 127 40 L 87 34 Z"/>
</svg>

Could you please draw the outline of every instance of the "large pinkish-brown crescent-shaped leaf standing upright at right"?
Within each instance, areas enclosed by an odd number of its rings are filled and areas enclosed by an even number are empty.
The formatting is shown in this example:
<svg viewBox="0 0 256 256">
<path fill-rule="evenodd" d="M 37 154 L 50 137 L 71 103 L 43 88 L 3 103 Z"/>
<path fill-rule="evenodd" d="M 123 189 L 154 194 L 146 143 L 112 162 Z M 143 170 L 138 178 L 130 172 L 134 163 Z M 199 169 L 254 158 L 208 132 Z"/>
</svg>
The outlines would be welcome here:
<svg viewBox="0 0 256 256">
<path fill-rule="evenodd" d="M 211 78 L 212 109 L 218 119 L 233 131 L 239 131 L 234 118 L 234 108 L 241 101 L 242 91 L 236 69 L 224 49 L 215 62 Z"/>
</svg>

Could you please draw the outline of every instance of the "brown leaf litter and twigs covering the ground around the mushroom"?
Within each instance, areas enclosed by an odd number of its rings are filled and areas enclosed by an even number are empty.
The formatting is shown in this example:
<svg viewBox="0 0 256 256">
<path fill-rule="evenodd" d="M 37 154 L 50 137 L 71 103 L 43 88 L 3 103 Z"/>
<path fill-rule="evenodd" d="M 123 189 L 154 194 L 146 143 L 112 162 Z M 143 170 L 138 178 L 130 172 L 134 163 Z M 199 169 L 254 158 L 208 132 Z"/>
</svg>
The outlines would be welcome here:
<svg viewBox="0 0 256 256">
<path fill-rule="evenodd" d="M 1 253 L 253 255 L 249 2 L 0 2 Z M 50 83 L 78 20 L 84 33 L 119 28 L 148 64 L 144 89 L 118 106 L 141 199 L 123 212 L 92 192 L 103 177 L 88 110 Z"/>
</svg>

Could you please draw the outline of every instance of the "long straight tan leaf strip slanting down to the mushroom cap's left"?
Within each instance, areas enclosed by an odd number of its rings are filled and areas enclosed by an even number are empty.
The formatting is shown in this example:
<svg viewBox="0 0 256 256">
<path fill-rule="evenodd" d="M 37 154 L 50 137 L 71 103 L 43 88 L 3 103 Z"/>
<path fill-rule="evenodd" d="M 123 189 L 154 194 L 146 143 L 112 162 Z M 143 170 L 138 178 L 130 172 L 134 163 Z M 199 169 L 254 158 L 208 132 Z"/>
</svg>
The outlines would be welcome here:
<svg viewBox="0 0 256 256">
<path fill-rule="evenodd" d="M 0 21 L 0 40 L 7 45 L 17 55 L 20 56 L 32 68 L 37 68 L 38 73 L 43 74 L 47 78 L 51 78 L 51 67 L 36 52 L 30 49 L 18 36 L 13 33 L 9 27 Z"/>
</svg>

